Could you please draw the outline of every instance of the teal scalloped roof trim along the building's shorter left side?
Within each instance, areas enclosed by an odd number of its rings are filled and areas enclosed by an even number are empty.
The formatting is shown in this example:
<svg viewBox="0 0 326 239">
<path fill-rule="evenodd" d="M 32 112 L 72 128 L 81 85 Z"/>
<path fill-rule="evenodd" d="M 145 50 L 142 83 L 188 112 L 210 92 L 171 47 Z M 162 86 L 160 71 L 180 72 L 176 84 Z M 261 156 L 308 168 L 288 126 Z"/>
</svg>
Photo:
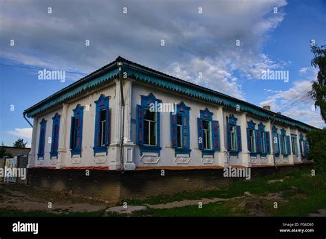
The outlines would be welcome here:
<svg viewBox="0 0 326 239">
<path fill-rule="evenodd" d="M 41 106 L 36 107 L 36 109 L 32 109 L 31 111 L 26 110 L 26 115 L 28 117 L 33 117 L 34 115 L 41 113 L 42 111 L 45 111 L 47 109 L 50 109 L 50 107 L 55 106 L 56 104 L 61 104 L 62 102 L 65 102 L 65 100 L 68 100 L 70 98 L 73 98 L 74 96 L 82 93 L 83 91 L 86 91 L 88 89 L 92 89 L 99 84 L 102 84 L 103 82 L 107 82 L 113 78 L 113 76 L 117 76 L 119 73 L 119 70 L 117 68 L 113 69 L 112 71 L 109 71 L 108 73 L 105 73 L 104 75 L 91 79 L 87 82 L 84 82 L 83 84 L 80 84 L 80 86 L 71 89 L 61 95 L 59 95 L 57 98 L 54 98 L 50 100 L 49 102 L 45 102 L 44 104 L 41 104 Z"/>
</svg>

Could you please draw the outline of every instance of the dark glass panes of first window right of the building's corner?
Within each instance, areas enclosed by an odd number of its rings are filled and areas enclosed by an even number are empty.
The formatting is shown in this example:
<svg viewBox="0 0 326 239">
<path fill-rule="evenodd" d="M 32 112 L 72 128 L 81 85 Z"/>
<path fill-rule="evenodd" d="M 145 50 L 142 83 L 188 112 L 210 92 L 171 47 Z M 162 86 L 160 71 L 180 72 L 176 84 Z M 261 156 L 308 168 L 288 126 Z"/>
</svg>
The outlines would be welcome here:
<svg viewBox="0 0 326 239">
<path fill-rule="evenodd" d="M 156 146 L 156 112 L 144 109 L 144 145 Z"/>
</svg>

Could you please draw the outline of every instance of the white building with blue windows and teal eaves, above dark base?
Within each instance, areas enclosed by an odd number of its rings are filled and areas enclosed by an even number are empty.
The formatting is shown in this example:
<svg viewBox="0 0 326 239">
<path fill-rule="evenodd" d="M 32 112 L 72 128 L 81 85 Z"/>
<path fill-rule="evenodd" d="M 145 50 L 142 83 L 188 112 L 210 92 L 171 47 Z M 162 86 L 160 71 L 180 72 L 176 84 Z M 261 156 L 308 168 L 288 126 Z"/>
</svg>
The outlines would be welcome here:
<svg viewBox="0 0 326 239">
<path fill-rule="evenodd" d="M 56 170 L 294 165 L 313 128 L 121 57 L 23 115 L 28 168 Z"/>
</svg>

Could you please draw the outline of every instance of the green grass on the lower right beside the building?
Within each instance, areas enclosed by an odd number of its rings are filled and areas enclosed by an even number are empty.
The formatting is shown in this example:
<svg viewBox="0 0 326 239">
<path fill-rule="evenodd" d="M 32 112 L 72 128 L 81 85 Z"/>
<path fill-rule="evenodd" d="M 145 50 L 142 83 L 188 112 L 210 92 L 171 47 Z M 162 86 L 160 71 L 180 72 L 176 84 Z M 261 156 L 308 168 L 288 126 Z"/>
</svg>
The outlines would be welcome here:
<svg viewBox="0 0 326 239">
<path fill-rule="evenodd" d="M 268 183 L 269 180 L 284 179 L 283 182 Z M 295 169 L 275 175 L 253 179 L 252 181 L 236 181 L 217 190 L 184 192 L 170 196 L 155 196 L 144 200 L 130 200 L 129 205 L 159 204 L 184 199 L 200 198 L 232 198 L 250 192 L 257 196 L 263 207 L 265 216 L 307 216 L 318 213 L 318 209 L 326 207 L 326 172 L 311 175 L 309 169 Z M 281 199 L 265 199 L 264 196 L 281 192 Z M 137 212 L 133 216 L 252 216 L 248 208 L 239 207 L 243 199 L 210 203 L 199 209 L 197 205 L 174 207 L 171 209 L 149 209 Z M 274 202 L 278 208 L 274 208 Z"/>
</svg>

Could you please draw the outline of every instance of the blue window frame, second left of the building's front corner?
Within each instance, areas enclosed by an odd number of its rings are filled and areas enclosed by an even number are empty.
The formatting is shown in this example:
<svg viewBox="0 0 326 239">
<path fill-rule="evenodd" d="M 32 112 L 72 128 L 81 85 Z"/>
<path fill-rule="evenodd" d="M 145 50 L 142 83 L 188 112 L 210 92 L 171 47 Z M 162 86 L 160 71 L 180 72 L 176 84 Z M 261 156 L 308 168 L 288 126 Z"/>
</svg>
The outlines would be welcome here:
<svg viewBox="0 0 326 239">
<path fill-rule="evenodd" d="M 72 155 L 80 155 L 83 139 L 83 114 L 84 106 L 77 104 L 73 110 L 72 122 L 70 127 L 70 152 Z"/>
</svg>

